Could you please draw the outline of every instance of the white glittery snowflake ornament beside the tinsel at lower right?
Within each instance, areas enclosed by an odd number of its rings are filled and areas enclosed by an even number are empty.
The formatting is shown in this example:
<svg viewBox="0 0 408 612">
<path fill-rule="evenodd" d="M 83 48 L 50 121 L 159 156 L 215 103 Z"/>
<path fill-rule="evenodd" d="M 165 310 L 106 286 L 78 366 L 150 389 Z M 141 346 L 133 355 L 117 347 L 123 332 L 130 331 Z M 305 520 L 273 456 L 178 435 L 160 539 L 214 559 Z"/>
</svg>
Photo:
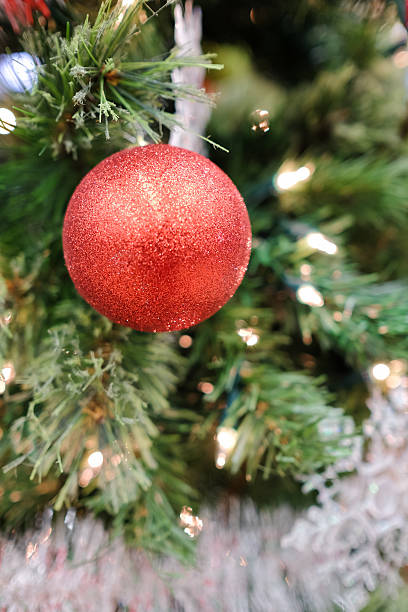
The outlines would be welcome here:
<svg viewBox="0 0 408 612">
<path fill-rule="evenodd" d="M 365 444 L 354 438 L 349 457 L 305 478 L 304 492 L 315 490 L 318 505 L 282 539 L 293 575 L 320 593 L 318 610 L 327 610 L 331 600 L 358 612 L 380 585 L 390 593 L 402 585 L 400 570 L 408 563 L 408 379 L 393 375 L 390 382 L 396 386 L 387 396 L 376 388 L 368 401 Z M 328 423 L 325 435 L 336 427 Z M 347 472 L 349 477 L 340 477 Z"/>
</svg>

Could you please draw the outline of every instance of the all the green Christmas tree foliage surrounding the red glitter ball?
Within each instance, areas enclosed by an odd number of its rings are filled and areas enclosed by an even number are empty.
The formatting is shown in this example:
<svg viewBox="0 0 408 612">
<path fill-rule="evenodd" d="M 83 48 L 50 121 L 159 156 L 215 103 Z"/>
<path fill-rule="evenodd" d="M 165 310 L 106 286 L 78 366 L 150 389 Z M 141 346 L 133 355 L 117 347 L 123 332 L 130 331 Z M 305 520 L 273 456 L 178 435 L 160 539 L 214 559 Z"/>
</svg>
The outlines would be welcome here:
<svg viewBox="0 0 408 612">
<path fill-rule="evenodd" d="M 209 56 L 176 51 L 146 59 L 143 7 L 139 0 L 122 15 L 103 4 L 93 24 L 25 33 L 24 48 L 42 66 L 32 94 L 16 101 L 19 127 L 0 167 L 0 350 L 17 371 L 0 406 L 0 514 L 16 526 L 44 505 L 75 505 L 139 546 L 189 558 L 177 515 L 218 494 L 196 491 L 203 472 L 216 472 L 218 427 L 237 431 L 227 469 L 217 472 L 227 488 L 257 474 L 318 471 L 348 452 L 352 430 L 333 378 L 344 387 L 351 372 L 361 384 L 374 360 L 408 359 L 406 110 L 400 75 L 378 56 L 383 35 L 337 8 L 325 13 L 326 30 L 310 33 L 325 50 L 324 69 L 286 91 L 254 72 L 242 48 L 224 49 L 243 61 L 228 60 L 238 68 L 219 81 L 212 133 L 232 154 L 214 156 L 248 194 L 247 277 L 217 315 L 187 332 L 191 349 L 180 347 L 180 334 L 119 328 L 68 279 L 66 203 L 101 157 L 160 140 L 175 123 L 175 98 L 203 99 L 171 82 L 174 68 L 209 67 Z M 256 108 L 269 110 L 269 131 L 251 130 Z M 315 172 L 278 192 L 286 160 L 312 162 Z M 312 249 L 311 231 L 334 241 L 336 255 Z M 306 283 L 321 307 L 300 303 Z M 245 333 L 256 336 L 252 346 Z M 348 409 L 360 414 L 361 395 Z M 104 460 L 90 468 L 94 451 Z"/>
</svg>

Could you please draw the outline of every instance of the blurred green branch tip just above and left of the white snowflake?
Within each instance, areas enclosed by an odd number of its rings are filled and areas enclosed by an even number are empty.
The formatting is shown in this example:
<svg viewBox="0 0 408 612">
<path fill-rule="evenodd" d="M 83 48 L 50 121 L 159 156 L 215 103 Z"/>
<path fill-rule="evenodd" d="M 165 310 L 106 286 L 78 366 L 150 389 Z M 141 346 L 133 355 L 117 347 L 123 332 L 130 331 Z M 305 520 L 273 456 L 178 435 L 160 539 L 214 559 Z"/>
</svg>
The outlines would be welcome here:
<svg viewBox="0 0 408 612">
<path fill-rule="evenodd" d="M 238 433 L 229 459 L 232 472 L 246 464 L 251 478 L 257 470 L 265 479 L 274 473 L 309 473 L 348 453 L 346 435 L 342 447 L 344 415 L 328 404 L 323 381 L 273 370 L 269 364 L 247 368 L 243 389 L 223 421 Z M 326 438 L 323 430 L 330 420 L 336 421 L 337 431 Z"/>
</svg>

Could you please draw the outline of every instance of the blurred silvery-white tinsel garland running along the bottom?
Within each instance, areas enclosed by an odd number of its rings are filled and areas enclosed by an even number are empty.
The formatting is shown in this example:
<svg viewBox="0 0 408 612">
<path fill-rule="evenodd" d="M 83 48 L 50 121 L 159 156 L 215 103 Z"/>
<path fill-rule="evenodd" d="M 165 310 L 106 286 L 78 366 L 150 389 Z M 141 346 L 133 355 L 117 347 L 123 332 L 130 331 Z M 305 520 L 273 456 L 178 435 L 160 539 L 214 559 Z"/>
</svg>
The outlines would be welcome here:
<svg viewBox="0 0 408 612">
<path fill-rule="evenodd" d="M 198 519 L 189 511 L 180 512 L 186 539 Z M 231 500 L 229 516 L 222 508 L 208 511 L 189 566 L 129 549 L 121 538 L 109 541 L 101 522 L 77 519 L 72 509 L 64 522 L 54 526 L 50 519 L 46 512 L 40 528 L 24 539 L 0 540 L 0 605 L 6 609 L 23 610 L 27 601 L 44 612 L 305 609 L 302 594 L 285 581 L 279 551 L 292 520 L 289 508 L 260 514 L 248 502 Z"/>
</svg>

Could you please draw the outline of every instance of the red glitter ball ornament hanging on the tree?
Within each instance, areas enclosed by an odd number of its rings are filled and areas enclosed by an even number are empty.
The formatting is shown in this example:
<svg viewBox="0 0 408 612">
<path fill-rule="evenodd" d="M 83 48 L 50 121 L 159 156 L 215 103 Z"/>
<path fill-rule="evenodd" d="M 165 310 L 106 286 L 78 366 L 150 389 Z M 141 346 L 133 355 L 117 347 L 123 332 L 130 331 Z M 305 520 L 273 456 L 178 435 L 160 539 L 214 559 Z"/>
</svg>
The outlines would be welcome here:
<svg viewBox="0 0 408 612">
<path fill-rule="evenodd" d="M 251 226 L 237 188 L 211 161 L 147 145 L 111 155 L 76 188 L 63 229 L 81 296 L 140 331 L 196 325 L 235 293 Z"/>
</svg>

